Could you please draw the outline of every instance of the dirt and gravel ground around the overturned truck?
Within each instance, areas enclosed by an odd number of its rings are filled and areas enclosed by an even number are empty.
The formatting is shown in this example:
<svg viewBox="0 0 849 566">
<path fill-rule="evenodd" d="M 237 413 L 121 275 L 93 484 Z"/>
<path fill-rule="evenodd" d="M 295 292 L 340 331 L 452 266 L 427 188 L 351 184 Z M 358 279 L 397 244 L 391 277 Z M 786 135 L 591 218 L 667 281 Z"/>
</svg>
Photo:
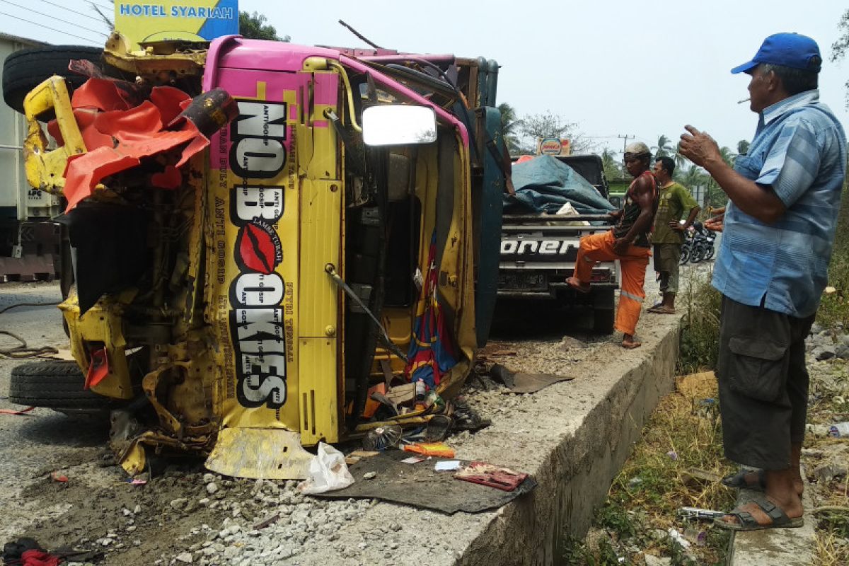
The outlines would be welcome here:
<svg viewBox="0 0 849 566">
<path fill-rule="evenodd" d="M 650 279 L 647 302 L 657 296 Z M 20 302 L 57 300 L 56 283 L 0 286 L 0 309 Z M 536 313 L 526 311 L 526 316 L 510 317 L 497 327 L 497 335 L 486 349 L 487 361 L 530 372 L 564 372 L 579 361 L 601 367 L 610 353 L 618 350 L 618 339 L 616 335 L 588 333 L 588 324 L 587 317 L 570 313 L 552 316 L 545 307 Z M 0 328 L 12 329 L 31 346 L 67 348 L 59 311 L 53 306 L 7 311 L 0 314 Z M 571 339 L 564 341 L 564 335 Z M 0 348 L 11 345 L 15 345 L 13 340 L 0 336 Z M 7 400 L 9 373 L 21 362 L 0 357 L 0 409 L 21 408 Z M 503 400 L 510 396 L 499 397 Z M 482 417 L 510 418 L 509 402 L 494 399 L 479 388 L 469 395 Z M 103 556 L 93 563 L 121 566 L 199 563 L 199 557 L 200 563 L 245 563 L 234 556 L 225 558 L 227 546 L 243 545 L 244 550 L 253 544 L 236 532 L 234 519 L 239 518 L 241 524 L 262 524 L 270 517 L 268 502 L 280 505 L 275 508 L 284 509 L 284 514 L 291 513 L 273 521 L 295 524 L 302 513 L 303 522 L 311 528 L 315 523 L 314 532 L 320 533 L 313 537 L 304 534 L 311 530 L 292 530 L 284 541 L 289 546 L 270 547 L 262 555 L 273 550 L 281 558 L 296 556 L 305 544 L 335 541 L 338 535 L 333 525 L 363 513 L 363 506 L 369 505 L 309 503 L 312 500 L 305 501 L 294 482 L 273 485 L 225 479 L 206 474 L 202 462 L 189 459 L 171 461 L 161 472 L 155 470 L 146 485 L 132 485 L 115 466 L 106 447 L 107 436 L 104 422 L 80 421 L 44 409 L 25 415 L 0 414 L 0 542 L 31 536 L 48 549 L 71 546 L 97 550 Z M 462 438 L 457 444 L 462 444 Z M 57 481 L 62 476 L 67 481 Z M 313 519 L 306 518 L 311 513 Z M 322 522 L 326 523 L 324 527 L 319 524 Z M 255 530 L 251 535 L 256 536 L 256 552 L 260 552 L 264 535 L 259 527 Z M 381 526 L 379 530 L 385 534 L 374 536 L 381 538 L 380 544 L 390 557 L 385 563 L 391 563 L 391 549 L 397 542 L 391 529 Z M 360 544 L 362 549 L 365 543 Z M 337 543 L 336 550 L 338 563 L 346 563 L 343 558 L 347 549 Z M 357 563 L 356 550 L 352 558 L 348 557 L 352 563 Z M 293 560 L 272 562 L 269 558 L 256 563 L 297 563 Z"/>
</svg>

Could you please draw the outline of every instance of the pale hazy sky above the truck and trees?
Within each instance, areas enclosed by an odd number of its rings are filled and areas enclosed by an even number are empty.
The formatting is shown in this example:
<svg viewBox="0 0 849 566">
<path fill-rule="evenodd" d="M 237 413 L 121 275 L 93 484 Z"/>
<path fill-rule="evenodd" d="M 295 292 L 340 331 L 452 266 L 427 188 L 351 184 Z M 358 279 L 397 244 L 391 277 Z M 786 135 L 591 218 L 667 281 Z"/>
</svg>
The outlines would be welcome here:
<svg viewBox="0 0 849 566">
<path fill-rule="evenodd" d="M 93 3 L 112 9 L 110 0 Z M 756 115 L 737 104 L 748 98 L 749 77 L 729 70 L 779 31 L 817 40 L 820 97 L 849 126 L 849 59 L 830 62 L 847 8 L 840 0 L 239 1 L 295 43 L 368 47 L 338 23 L 345 20 L 381 47 L 495 59 L 499 102 L 520 116 L 550 110 L 576 122 L 599 149 L 619 152 L 620 136 L 652 146 L 661 135 L 677 141 L 685 124 L 732 149 L 751 140 Z M 98 20 L 86 0 L 0 0 L 0 32 L 15 36 L 102 45 Z"/>
</svg>

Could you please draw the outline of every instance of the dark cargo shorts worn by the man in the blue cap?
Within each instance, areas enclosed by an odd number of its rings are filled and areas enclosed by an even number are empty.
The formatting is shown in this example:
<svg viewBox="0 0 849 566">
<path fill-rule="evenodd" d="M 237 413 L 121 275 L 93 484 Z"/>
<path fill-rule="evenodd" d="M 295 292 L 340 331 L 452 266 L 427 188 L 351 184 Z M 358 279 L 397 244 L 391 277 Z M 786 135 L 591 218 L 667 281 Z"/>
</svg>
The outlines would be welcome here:
<svg viewBox="0 0 849 566">
<path fill-rule="evenodd" d="M 790 468 L 790 443 L 805 436 L 805 339 L 813 318 L 722 297 L 717 378 L 722 445 L 730 460 Z"/>
</svg>

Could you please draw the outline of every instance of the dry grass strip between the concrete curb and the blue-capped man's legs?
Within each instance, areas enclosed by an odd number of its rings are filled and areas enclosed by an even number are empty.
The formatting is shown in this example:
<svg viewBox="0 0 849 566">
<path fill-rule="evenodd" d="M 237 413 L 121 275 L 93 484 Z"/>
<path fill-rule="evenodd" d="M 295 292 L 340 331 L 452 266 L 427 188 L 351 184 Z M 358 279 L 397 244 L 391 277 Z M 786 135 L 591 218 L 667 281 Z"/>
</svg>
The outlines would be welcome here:
<svg viewBox="0 0 849 566">
<path fill-rule="evenodd" d="M 642 564 L 643 553 L 672 557 L 672 564 L 721 564 L 728 546 L 728 531 L 710 523 L 678 518 L 679 507 L 726 509 L 734 506 L 734 494 L 716 479 L 732 467 L 722 457 L 722 439 L 712 373 L 679 383 L 678 392 L 667 395 L 649 418 L 642 440 L 599 509 L 595 529 L 580 558 L 573 553 L 570 564 Z M 714 480 L 695 479 L 691 470 L 713 475 Z M 669 527 L 706 535 L 706 545 L 690 547 L 692 558 L 666 537 L 656 536 Z M 641 552 L 629 552 L 638 547 Z"/>
</svg>

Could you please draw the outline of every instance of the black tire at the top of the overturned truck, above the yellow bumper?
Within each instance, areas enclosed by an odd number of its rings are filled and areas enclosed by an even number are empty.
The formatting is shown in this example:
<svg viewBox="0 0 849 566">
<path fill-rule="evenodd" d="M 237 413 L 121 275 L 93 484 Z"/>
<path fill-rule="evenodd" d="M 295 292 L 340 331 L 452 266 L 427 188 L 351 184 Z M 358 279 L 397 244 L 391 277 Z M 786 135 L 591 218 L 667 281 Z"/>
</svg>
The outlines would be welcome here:
<svg viewBox="0 0 849 566">
<path fill-rule="evenodd" d="M 85 45 L 52 45 L 15 51 L 3 63 L 3 100 L 23 114 L 26 95 L 53 75 L 64 76 L 71 90 L 80 87 L 88 77 L 68 70 L 68 63 L 71 59 L 99 63 L 102 53 L 103 48 Z"/>
</svg>

